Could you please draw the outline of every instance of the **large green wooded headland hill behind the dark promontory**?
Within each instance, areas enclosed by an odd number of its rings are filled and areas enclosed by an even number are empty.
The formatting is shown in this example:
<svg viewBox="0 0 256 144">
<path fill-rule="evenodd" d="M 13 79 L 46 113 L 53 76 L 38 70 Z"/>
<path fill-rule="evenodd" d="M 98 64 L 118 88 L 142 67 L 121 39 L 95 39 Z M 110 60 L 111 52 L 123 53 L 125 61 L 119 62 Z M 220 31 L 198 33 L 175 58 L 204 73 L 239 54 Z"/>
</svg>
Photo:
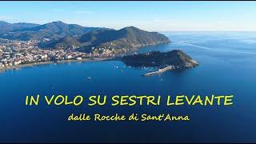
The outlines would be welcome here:
<svg viewBox="0 0 256 144">
<path fill-rule="evenodd" d="M 170 42 L 163 34 L 139 30 L 134 26 L 121 30 L 92 30 L 78 37 L 65 37 L 48 43 L 47 47 L 64 48 L 78 46 L 79 51 L 90 51 L 97 48 L 114 50 L 133 50 L 142 46 Z"/>
</svg>

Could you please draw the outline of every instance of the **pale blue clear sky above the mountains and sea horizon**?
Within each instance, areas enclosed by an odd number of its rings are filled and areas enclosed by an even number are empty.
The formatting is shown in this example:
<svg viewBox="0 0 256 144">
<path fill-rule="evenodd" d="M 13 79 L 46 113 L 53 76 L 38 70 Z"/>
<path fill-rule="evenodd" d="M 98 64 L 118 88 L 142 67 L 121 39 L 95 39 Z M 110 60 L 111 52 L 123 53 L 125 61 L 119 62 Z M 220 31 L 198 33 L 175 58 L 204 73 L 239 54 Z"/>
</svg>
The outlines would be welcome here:
<svg viewBox="0 0 256 144">
<path fill-rule="evenodd" d="M 256 31 L 256 2 L 0 2 L 0 21 L 116 30 Z"/>
</svg>

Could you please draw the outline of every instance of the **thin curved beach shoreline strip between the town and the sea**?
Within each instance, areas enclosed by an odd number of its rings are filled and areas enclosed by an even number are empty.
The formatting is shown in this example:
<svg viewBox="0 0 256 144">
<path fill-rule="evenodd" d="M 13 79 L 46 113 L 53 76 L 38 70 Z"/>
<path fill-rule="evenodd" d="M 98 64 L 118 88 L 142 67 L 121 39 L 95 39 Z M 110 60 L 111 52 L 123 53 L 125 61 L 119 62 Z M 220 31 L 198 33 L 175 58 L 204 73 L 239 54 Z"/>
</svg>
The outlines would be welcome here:
<svg viewBox="0 0 256 144">
<path fill-rule="evenodd" d="M 49 62 L 35 62 L 35 63 L 29 63 L 29 64 L 22 64 L 18 66 L 8 66 L 6 68 L 0 69 L 0 74 L 4 73 L 6 70 L 18 70 L 22 69 L 23 67 L 33 67 L 33 66 L 39 66 L 39 65 L 48 65 L 48 64 L 60 64 L 60 63 L 67 63 L 67 62 L 98 62 L 98 61 L 106 61 L 110 60 L 113 58 L 85 58 L 82 60 L 76 60 L 76 59 L 71 59 L 71 60 L 63 60 L 59 62 L 54 62 L 54 61 L 49 61 Z"/>
</svg>

